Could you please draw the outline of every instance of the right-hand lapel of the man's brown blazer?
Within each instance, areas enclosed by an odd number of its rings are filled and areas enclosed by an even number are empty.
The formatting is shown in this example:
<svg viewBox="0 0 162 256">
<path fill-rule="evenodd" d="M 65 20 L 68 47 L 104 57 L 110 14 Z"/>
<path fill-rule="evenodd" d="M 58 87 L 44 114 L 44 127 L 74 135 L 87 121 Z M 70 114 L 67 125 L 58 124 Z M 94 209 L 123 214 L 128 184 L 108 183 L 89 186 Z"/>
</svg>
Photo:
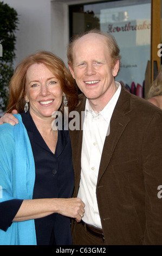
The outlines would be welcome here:
<svg viewBox="0 0 162 256">
<path fill-rule="evenodd" d="M 114 153 L 116 144 L 125 130 L 125 127 L 129 123 L 130 119 L 126 115 L 131 111 L 131 95 L 126 92 L 124 88 L 121 89 L 121 93 L 114 108 L 114 112 L 111 118 L 110 127 L 109 127 L 109 135 L 105 138 L 105 143 L 103 145 L 99 175 L 98 175 L 98 183 L 105 173 L 105 170 L 111 161 L 112 155 Z"/>
</svg>

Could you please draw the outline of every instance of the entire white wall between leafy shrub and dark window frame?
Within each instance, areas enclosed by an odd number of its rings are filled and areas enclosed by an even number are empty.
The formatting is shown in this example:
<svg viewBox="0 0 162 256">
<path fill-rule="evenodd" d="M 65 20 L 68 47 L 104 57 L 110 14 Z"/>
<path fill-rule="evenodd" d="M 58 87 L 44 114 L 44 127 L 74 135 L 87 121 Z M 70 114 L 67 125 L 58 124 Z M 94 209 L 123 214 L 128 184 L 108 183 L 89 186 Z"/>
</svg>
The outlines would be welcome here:
<svg viewBox="0 0 162 256">
<path fill-rule="evenodd" d="M 39 50 L 55 53 L 67 64 L 68 5 L 102 0 L 3 0 L 19 15 L 15 66 Z"/>
</svg>

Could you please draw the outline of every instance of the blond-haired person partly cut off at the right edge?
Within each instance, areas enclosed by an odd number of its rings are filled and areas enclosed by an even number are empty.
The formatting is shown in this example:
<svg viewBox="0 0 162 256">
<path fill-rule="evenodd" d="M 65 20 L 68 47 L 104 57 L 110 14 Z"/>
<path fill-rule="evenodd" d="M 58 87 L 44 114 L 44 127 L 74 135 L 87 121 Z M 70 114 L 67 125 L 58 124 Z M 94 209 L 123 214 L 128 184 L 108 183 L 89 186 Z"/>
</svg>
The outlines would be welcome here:
<svg viewBox="0 0 162 256">
<path fill-rule="evenodd" d="M 148 101 L 162 109 L 162 66 L 147 95 Z"/>
</svg>

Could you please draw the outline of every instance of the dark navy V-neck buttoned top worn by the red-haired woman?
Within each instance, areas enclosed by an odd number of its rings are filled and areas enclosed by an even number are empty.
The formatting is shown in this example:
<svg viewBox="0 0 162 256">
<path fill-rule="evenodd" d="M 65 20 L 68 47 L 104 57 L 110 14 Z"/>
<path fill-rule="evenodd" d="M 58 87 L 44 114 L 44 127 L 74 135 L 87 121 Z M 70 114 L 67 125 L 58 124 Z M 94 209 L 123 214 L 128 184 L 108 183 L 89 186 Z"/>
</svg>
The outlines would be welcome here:
<svg viewBox="0 0 162 256">
<path fill-rule="evenodd" d="M 22 113 L 35 160 L 35 186 L 33 199 L 69 198 L 74 189 L 74 170 L 69 132 L 58 131 L 55 154 L 48 148 L 31 118 L 29 111 Z M 5 216 L 0 228 L 7 230 L 20 208 L 22 200 L 9 200 L 0 204 L 0 214 Z M 14 211 L 8 211 L 10 207 Z M 13 208 L 12 208 L 13 209 Z M 2 218 L 1 218 L 2 219 Z M 72 245 L 70 218 L 51 214 L 35 220 L 37 245 Z"/>
</svg>

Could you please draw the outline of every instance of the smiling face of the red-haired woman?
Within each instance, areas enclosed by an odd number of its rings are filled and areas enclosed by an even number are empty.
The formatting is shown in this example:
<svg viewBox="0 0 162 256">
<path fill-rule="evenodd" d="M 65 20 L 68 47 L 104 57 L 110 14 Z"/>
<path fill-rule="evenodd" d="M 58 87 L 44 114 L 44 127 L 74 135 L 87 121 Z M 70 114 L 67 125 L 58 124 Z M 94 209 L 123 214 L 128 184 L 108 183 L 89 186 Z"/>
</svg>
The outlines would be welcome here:
<svg viewBox="0 0 162 256">
<path fill-rule="evenodd" d="M 40 118 L 51 117 L 62 104 L 59 80 L 44 65 L 33 64 L 27 70 L 25 100 L 30 102 L 30 114 Z"/>
</svg>

